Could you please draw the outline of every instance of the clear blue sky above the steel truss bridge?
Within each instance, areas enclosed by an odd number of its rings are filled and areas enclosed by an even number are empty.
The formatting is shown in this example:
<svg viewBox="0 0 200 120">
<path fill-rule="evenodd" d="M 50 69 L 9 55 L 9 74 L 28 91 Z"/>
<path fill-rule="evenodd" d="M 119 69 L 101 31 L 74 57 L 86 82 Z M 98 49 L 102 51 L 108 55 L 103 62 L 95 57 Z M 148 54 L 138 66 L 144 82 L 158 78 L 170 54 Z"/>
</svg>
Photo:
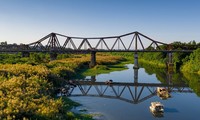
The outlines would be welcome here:
<svg viewBox="0 0 200 120">
<path fill-rule="evenodd" d="M 200 0 L 0 0 L 0 42 L 134 31 L 166 43 L 200 42 L 199 6 Z"/>
</svg>

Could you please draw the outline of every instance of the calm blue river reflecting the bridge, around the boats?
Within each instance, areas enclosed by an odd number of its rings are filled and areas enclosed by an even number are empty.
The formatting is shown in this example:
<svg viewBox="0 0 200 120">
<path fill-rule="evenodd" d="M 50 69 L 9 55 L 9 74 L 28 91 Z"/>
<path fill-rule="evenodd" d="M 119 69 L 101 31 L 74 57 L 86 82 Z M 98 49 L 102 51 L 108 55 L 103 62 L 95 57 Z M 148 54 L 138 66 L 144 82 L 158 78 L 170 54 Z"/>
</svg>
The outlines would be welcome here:
<svg viewBox="0 0 200 120">
<path fill-rule="evenodd" d="M 133 64 L 126 66 L 128 69 L 123 71 L 80 80 L 69 98 L 82 106 L 73 111 L 86 109 L 97 120 L 199 120 L 200 97 L 182 75 L 151 68 L 133 69 Z M 108 80 L 113 83 L 106 84 Z M 157 87 L 165 87 L 171 97 L 160 97 Z M 154 101 L 164 105 L 163 115 L 150 112 L 149 106 Z"/>
</svg>

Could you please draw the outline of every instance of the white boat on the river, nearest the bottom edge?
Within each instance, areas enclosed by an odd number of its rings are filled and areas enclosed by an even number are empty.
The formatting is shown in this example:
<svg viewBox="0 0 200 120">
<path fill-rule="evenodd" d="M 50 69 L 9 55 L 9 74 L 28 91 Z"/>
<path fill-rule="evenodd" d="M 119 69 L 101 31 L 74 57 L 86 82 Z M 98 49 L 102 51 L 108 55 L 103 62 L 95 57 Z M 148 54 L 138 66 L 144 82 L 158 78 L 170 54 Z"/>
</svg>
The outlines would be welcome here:
<svg viewBox="0 0 200 120">
<path fill-rule="evenodd" d="M 164 106 L 160 102 L 151 102 L 149 109 L 152 113 L 164 113 Z"/>
</svg>

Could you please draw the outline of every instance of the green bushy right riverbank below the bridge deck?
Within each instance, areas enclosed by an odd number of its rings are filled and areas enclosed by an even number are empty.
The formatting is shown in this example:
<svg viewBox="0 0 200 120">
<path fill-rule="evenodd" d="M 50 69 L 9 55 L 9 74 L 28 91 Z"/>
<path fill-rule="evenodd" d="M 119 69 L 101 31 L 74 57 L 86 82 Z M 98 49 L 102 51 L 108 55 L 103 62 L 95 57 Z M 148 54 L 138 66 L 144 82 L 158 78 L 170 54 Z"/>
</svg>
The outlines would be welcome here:
<svg viewBox="0 0 200 120">
<path fill-rule="evenodd" d="M 200 48 L 192 53 L 173 53 L 173 70 L 182 73 L 200 75 Z M 140 53 L 139 62 L 156 68 L 166 68 L 168 56 L 166 53 Z"/>
</svg>

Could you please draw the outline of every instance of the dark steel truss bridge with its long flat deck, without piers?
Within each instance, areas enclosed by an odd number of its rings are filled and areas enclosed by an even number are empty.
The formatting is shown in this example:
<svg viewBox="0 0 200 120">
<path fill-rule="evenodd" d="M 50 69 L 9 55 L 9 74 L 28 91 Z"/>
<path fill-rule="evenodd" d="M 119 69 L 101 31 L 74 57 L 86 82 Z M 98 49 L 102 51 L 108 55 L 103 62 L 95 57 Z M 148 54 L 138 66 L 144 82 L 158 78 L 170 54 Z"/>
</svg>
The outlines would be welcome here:
<svg viewBox="0 0 200 120">
<path fill-rule="evenodd" d="M 160 47 L 163 46 L 163 47 Z M 36 42 L 21 45 L 0 45 L 0 52 L 172 52 L 172 46 L 142 33 L 131 32 L 110 37 L 71 37 L 50 33 Z M 175 50 L 180 51 L 180 50 Z M 191 50 L 181 50 L 191 52 Z"/>
</svg>

